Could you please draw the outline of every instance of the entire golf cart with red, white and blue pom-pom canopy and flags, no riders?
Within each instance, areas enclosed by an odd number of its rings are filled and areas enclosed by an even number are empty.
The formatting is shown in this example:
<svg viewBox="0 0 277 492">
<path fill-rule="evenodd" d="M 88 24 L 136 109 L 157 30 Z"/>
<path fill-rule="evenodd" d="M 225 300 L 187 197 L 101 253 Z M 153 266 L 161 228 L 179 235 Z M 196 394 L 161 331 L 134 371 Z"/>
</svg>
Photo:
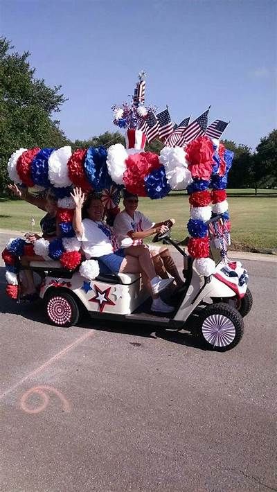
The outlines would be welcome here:
<svg viewBox="0 0 277 492">
<path fill-rule="evenodd" d="M 242 317 L 251 309 L 248 276 L 240 262 L 229 261 L 230 220 L 226 185 L 233 152 L 218 140 L 226 125 L 208 125 L 209 108 L 190 123 L 173 125 L 168 108 L 157 114 L 145 104 L 144 73 L 139 76 L 132 102 L 114 106 L 114 123 L 125 129 L 123 146 L 77 149 L 70 146 L 21 148 L 8 162 L 12 182 L 36 191 L 51 190 L 57 197 L 59 237 L 28 243 L 12 238 L 2 253 L 6 264 L 6 293 L 20 303 L 20 258 L 34 254 L 39 297 L 48 322 L 57 326 L 78 324 L 87 311 L 94 319 L 136 322 L 153 328 L 186 329 L 217 350 L 231 349 L 243 334 Z M 215 138 L 217 137 L 217 138 Z M 164 143 L 159 155 L 145 152 L 146 141 Z M 188 250 L 171 238 L 170 230 L 157 235 L 175 247 L 183 258 L 185 284 L 175 292 L 175 310 L 163 316 L 150 311 L 150 295 L 141 274 L 110 272 L 100 275 L 97 258 L 82 256 L 72 221 L 75 204 L 70 195 L 78 186 L 102 197 L 105 215 L 114 216 L 120 192 L 158 200 L 172 190 L 187 190 L 190 219 Z M 181 198 L 180 198 L 181 200 Z M 182 204 L 182 207 L 184 204 Z"/>
</svg>

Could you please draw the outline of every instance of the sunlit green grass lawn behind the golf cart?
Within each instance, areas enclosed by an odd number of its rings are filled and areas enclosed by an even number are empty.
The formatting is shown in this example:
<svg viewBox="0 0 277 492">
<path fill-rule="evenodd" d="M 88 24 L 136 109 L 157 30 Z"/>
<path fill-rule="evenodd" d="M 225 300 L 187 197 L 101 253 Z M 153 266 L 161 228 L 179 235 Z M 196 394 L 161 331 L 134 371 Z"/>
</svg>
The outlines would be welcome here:
<svg viewBox="0 0 277 492">
<path fill-rule="evenodd" d="M 258 196 L 253 190 L 227 190 L 231 214 L 231 238 L 234 244 L 250 248 L 276 248 L 276 190 L 260 190 Z M 188 236 L 186 222 L 189 218 L 188 195 L 172 192 L 163 200 L 140 199 L 139 209 L 153 221 L 175 218 L 172 237 L 177 240 Z M 35 231 L 39 232 L 39 220 L 43 211 L 22 202 L 0 198 L 0 228 L 30 231 L 31 216 L 35 218 Z"/>
</svg>

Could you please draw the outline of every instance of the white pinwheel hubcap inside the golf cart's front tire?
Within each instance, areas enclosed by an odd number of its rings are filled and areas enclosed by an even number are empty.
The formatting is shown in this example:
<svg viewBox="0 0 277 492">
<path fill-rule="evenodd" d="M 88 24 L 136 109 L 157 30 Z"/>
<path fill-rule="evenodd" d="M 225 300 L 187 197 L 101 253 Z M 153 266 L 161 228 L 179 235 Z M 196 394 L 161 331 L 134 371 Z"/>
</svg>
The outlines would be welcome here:
<svg viewBox="0 0 277 492">
<path fill-rule="evenodd" d="M 231 319 L 226 316 L 211 315 L 204 320 L 202 333 L 209 344 L 213 346 L 227 346 L 235 338 L 235 326 L 231 322 Z"/>
</svg>

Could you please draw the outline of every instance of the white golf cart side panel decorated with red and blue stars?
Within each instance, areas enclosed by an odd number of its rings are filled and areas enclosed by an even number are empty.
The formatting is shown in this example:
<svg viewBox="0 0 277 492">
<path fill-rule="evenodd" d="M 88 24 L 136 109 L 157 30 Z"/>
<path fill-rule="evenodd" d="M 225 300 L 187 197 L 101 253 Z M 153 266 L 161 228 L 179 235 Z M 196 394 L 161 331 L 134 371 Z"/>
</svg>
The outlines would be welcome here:
<svg viewBox="0 0 277 492">
<path fill-rule="evenodd" d="M 148 297 L 148 292 L 143 287 L 140 275 L 124 275 L 123 281 L 128 283 L 110 284 L 97 279 L 89 282 L 75 272 L 71 279 L 46 276 L 44 285 L 40 290 L 40 297 L 44 298 L 51 288 L 66 288 L 80 299 L 89 313 L 110 313 L 113 315 L 128 315 Z"/>
</svg>

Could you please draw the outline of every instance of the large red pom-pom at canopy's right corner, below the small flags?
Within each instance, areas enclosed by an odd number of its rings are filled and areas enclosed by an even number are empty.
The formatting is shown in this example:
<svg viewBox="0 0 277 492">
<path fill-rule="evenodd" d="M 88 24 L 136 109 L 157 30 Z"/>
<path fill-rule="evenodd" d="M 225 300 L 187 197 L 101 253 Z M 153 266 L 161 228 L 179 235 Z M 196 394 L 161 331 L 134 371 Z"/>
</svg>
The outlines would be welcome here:
<svg viewBox="0 0 277 492">
<path fill-rule="evenodd" d="M 186 147 L 188 169 L 193 178 L 210 179 L 213 169 L 213 142 L 208 137 L 198 137 Z"/>
</svg>

